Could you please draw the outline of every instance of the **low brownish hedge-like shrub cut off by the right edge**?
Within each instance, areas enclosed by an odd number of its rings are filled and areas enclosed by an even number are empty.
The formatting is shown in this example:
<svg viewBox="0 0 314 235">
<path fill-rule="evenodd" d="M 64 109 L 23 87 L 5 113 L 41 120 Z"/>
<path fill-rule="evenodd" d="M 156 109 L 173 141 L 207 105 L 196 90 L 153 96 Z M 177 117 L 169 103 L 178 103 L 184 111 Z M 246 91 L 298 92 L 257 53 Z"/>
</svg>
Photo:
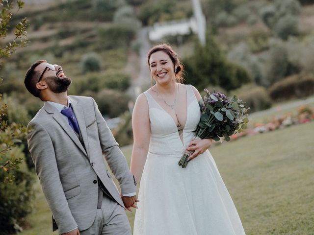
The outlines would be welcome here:
<svg viewBox="0 0 314 235">
<path fill-rule="evenodd" d="M 276 82 L 268 89 L 269 95 L 274 100 L 287 100 L 303 98 L 314 94 L 313 75 L 293 75 Z"/>
</svg>

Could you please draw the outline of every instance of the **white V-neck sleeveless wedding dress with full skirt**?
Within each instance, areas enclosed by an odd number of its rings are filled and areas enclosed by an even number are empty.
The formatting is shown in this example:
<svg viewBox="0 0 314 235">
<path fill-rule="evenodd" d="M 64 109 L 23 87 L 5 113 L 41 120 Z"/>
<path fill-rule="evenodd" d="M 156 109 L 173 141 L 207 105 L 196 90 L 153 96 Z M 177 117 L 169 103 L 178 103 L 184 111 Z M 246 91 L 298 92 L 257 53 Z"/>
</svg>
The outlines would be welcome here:
<svg viewBox="0 0 314 235">
<path fill-rule="evenodd" d="M 173 118 L 147 92 L 151 140 L 144 166 L 133 235 L 245 235 L 230 194 L 207 150 L 178 165 L 194 136 L 200 108 L 190 85 L 180 139 Z"/>
</svg>

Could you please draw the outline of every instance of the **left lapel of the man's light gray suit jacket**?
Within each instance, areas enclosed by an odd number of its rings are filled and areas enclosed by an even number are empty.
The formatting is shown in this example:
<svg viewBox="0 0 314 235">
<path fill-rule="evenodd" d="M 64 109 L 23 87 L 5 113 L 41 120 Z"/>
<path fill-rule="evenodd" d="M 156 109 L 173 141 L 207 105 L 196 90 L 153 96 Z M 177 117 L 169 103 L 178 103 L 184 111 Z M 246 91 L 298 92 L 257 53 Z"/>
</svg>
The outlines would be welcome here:
<svg viewBox="0 0 314 235">
<path fill-rule="evenodd" d="M 87 153 L 83 147 L 83 145 L 78 140 L 78 137 L 72 130 L 71 126 L 66 123 L 64 118 L 62 117 L 62 114 L 57 112 L 57 110 L 49 103 L 45 102 L 44 109 L 50 113 L 53 114 L 53 119 L 62 127 L 62 129 L 66 132 L 66 134 L 72 139 L 72 141 L 78 146 L 78 148 L 87 156 Z M 79 123 L 78 123 L 79 125 Z M 86 128 L 85 128 L 86 131 Z"/>
</svg>

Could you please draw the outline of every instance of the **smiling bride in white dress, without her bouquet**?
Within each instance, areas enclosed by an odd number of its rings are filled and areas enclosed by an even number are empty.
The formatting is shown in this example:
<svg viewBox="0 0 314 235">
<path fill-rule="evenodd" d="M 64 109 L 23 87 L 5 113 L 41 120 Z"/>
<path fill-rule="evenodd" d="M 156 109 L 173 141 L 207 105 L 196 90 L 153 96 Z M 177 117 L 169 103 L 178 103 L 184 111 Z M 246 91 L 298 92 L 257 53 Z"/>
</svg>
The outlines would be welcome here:
<svg viewBox="0 0 314 235">
<path fill-rule="evenodd" d="M 183 66 L 170 46 L 153 47 L 148 64 L 156 85 L 138 96 L 132 116 L 131 172 L 141 178 L 133 235 L 244 235 L 207 150 L 211 139 L 191 141 L 201 95 L 181 84 Z M 182 168 L 185 149 L 195 152 Z"/>
</svg>

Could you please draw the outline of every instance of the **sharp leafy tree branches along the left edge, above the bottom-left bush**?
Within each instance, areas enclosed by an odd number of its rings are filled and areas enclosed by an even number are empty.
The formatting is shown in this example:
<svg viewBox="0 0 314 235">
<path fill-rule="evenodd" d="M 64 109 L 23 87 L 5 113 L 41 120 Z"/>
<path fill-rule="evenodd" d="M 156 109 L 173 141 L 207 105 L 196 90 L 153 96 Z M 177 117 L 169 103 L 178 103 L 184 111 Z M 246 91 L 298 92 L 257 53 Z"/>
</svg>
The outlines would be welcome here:
<svg viewBox="0 0 314 235">
<path fill-rule="evenodd" d="M 7 32 L 10 28 L 10 22 L 12 22 L 13 14 L 12 10 L 17 6 L 18 10 L 24 6 L 22 0 L 0 0 L 0 37 L 5 39 L 7 37 Z M 26 28 L 28 26 L 27 19 L 22 19 L 18 24 L 15 25 L 14 39 L 7 42 L 3 47 L 0 47 L 0 68 L 3 63 L 3 59 L 9 57 L 16 51 L 19 47 L 27 46 L 26 39 Z M 0 78 L 0 83 L 2 78 Z M 2 94 L 0 94 L 1 101 Z M 6 104 L 1 104 L 0 107 L 0 170 L 7 172 L 7 176 L 4 179 L 0 179 L 0 183 L 13 184 L 15 181 L 15 175 L 10 172 L 11 170 L 18 169 L 19 164 L 22 163 L 21 158 L 15 158 L 15 156 L 8 158 L 10 156 L 7 154 L 11 147 L 15 144 L 21 142 L 25 138 L 27 129 L 23 125 L 12 123 L 8 125 L 6 120 Z"/>
</svg>

